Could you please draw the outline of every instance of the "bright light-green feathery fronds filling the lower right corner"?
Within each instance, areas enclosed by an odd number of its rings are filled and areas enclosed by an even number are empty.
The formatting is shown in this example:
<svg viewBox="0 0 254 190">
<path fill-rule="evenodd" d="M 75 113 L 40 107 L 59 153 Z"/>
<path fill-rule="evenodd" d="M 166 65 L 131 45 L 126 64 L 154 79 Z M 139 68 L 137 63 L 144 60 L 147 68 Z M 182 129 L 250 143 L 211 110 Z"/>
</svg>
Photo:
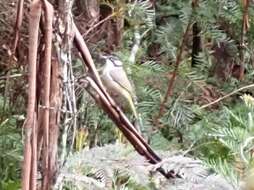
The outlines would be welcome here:
<svg viewBox="0 0 254 190">
<path fill-rule="evenodd" d="M 242 99 L 244 104 L 239 103 L 231 109 L 224 107 L 204 116 L 193 126 L 203 131 L 197 139 L 195 153 L 199 152 L 209 167 L 225 176 L 235 187 L 253 167 L 254 99 L 249 95 L 243 95 Z"/>
</svg>

